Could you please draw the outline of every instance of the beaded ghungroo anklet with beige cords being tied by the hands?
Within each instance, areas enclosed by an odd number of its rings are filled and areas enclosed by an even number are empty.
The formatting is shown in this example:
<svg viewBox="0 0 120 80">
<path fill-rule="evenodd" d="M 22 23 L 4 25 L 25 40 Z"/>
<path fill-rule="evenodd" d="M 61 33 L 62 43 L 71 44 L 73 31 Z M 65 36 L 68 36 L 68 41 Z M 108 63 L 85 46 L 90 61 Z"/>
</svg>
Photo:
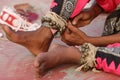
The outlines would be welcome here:
<svg viewBox="0 0 120 80">
<path fill-rule="evenodd" d="M 43 16 L 41 21 L 43 26 L 55 29 L 61 34 L 65 31 L 65 26 L 67 25 L 67 22 L 54 12 L 48 12 L 45 16 Z"/>
</svg>

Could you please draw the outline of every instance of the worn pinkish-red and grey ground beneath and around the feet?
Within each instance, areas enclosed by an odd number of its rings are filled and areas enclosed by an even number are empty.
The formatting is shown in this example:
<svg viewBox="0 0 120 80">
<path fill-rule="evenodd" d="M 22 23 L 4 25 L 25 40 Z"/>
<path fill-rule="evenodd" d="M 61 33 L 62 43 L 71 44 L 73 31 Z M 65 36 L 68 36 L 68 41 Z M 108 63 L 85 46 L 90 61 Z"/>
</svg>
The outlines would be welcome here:
<svg viewBox="0 0 120 80">
<path fill-rule="evenodd" d="M 51 0 L 0 0 L 0 10 L 3 6 L 29 3 L 33 5 L 40 18 L 49 10 Z M 100 36 L 107 14 L 101 14 L 92 23 L 81 28 L 89 36 Z M 0 27 L 0 33 L 4 34 Z M 52 42 L 65 45 L 60 38 Z M 0 38 L 0 80 L 37 80 L 33 67 L 33 56 L 26 48 L 7 40 L 5 34 Z M 120 80 L 113 74 L 104 72 L 75 72 L 76 65 L 61 65 L 50 70 L 39 80 Z"/>
</svg>

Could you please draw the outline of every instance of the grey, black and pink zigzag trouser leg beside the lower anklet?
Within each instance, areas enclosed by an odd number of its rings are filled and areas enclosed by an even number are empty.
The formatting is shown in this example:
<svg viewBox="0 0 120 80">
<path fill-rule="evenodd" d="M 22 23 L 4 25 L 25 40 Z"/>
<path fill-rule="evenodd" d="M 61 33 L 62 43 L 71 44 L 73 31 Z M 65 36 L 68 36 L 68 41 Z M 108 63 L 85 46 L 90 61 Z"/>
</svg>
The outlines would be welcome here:
<svg viewBox="0 0 120 80">
<path fill-rule="evenodd" d="M 120 46 L 100 47 L 96 52 L 96 68 L 120 76 Z"/>
</svg>

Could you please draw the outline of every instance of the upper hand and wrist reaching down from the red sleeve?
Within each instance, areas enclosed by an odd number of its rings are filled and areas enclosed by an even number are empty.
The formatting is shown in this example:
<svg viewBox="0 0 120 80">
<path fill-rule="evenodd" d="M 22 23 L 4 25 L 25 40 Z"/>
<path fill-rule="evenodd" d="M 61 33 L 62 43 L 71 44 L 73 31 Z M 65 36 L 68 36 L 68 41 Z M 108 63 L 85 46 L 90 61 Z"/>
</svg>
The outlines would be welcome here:
<svg viewBox="0 0 120 80">
<path fill-rule="evenodd" d="M 88 25 L 101 12 L 103 12 L 103 9 L 98 4 L 94 4 L 90 9 L 83 10 L 73 18 L 72 25 L 76 27 Z"/>
</svg>

